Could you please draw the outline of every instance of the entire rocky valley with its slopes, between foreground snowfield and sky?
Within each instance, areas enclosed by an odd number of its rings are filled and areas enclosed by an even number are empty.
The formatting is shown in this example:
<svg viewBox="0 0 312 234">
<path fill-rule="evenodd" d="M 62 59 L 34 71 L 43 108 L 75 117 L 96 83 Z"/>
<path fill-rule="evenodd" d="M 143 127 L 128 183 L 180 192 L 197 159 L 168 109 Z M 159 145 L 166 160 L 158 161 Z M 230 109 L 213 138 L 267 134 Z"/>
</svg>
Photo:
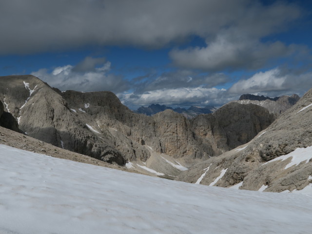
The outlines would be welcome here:
<svg viewBox="0 0 312 234">
<path fill-rule="evenodd" d="M 240 99 L 193 118 L 172 109 L 147 116 L 111 92 L 61 92 L 34 76 L 1 77 L 0 125 L 15 131 L 1 128 L 1 143 L 210 186 L 309 188 L 312 90 Z"/>
</svg>

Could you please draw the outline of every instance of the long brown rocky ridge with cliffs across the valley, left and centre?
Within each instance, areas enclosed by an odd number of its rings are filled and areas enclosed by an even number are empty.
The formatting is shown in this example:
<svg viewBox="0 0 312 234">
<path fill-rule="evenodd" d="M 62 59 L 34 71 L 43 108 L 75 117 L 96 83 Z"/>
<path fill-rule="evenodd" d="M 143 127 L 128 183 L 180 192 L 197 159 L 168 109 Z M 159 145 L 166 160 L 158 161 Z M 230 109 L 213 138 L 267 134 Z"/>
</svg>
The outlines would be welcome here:
<svg viewBox="0 0 312 234">
<path fill-rule="evenodd" d="M 274 120 L 262 107 L 236 103 L 191 120 L 173 110 L 149 117 L 111 92 L 62 93 L 34 76 L 1 77 L 0 100 L 30 137 L 157 176 L 247 143 Z"/>
</svg>

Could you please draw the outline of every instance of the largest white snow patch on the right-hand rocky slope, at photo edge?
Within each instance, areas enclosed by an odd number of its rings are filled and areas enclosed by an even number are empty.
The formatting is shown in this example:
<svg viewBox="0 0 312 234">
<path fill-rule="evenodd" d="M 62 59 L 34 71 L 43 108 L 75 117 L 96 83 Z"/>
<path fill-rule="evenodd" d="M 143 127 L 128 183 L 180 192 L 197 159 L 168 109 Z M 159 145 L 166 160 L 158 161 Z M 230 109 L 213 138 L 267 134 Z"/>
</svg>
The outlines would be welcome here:
<svg viewBox="0 0 312 234">
<path fill-rule="evenodd" d="M 291 153 L 289 153 L 288 155 L 276 157 L 276 158 L 274 158 L 274 159 L 272 159 L 266 163 L 263 163 L 262 165 L 265 165 L 265 164 L 270 163 L 270 162 L 278 161 L 278 160 L 284 161 L 290 157 L 292 157 L 292 160 L 290 163 L 288 163 L 286 165 L 286 167 L 284 169 L 290 168 L 293 165 L 297 166 L 303 161 L 306 161 L 306 163 L 308 163 L 309 160 L 312 158 L 312 146 L 309 146 L 307 148 L 297 148 L 294 151 L 292 151 Z"/>
</svg>

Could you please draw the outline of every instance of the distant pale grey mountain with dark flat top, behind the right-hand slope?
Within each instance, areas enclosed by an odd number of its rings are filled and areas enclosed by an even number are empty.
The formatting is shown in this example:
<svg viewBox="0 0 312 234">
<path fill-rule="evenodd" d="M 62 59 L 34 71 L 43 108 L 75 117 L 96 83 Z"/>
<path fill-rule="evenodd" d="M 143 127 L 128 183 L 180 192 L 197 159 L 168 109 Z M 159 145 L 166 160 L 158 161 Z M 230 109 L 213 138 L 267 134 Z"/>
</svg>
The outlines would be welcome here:
<svg viewBox="0 0 312 234">
<path fill-rule="evenodd" d="M 252 94 L 243 94 L 240 96 L 239 100 L 234 102 L 240 104 L 255 104 L 262 106 L 270 111 L 270 113 L 275 114 L 277 117 L 292 107 L 300 97 L 296 94 L 292 96 L 281 96 L 275 98 L 269 98 L 264 96 L 256 96 Z"/>
</svg>

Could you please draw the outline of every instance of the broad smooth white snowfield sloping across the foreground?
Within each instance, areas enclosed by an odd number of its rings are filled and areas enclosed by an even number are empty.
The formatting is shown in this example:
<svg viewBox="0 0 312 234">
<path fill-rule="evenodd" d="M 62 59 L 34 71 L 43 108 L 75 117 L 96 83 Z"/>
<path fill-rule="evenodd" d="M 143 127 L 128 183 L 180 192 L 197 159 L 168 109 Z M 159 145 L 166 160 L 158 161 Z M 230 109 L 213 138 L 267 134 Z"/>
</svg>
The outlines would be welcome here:
<svg viewBox="0 0 312 234">
<path fill-rule="evenodd" d="M 1 234 L 310 234 L 312 195 L 209 187 L 0 145 Z"/>
</svg>

